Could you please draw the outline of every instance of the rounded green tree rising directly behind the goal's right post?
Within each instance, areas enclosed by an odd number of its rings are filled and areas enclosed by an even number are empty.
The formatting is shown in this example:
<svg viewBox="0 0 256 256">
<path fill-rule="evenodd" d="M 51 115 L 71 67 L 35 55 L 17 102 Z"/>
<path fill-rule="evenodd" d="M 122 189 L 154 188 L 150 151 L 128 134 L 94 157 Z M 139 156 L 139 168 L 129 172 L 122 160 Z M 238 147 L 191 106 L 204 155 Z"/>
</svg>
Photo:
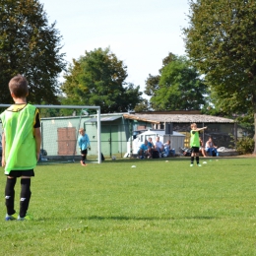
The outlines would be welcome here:
<svg viewBox="0 0 256 256">
<path fill-rule="evenodd" d="M 109 48 L 86 51 L 85 56 L 73 60 L 64 76 L 64 102 L 99 105 L 102 113 L 134 109 L 142 93 L 139 86 L 125 82 L 126 69 Z"/>
</svg>

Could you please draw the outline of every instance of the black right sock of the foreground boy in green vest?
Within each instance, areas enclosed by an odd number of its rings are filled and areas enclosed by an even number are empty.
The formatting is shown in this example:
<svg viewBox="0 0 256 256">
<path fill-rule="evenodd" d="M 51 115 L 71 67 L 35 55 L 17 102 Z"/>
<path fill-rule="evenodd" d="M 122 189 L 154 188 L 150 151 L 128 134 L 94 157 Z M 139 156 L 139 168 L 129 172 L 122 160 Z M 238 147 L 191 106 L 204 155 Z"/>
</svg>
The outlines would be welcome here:
<svg viewBox="0 0 256 256">
<path fill-rule="evenodd" d="M 31 179 L 30 178 L 22 178 L 21 179 L 21 201 L 20 201 L 20 217 L 26 217 L 30 200 L 32 196 L 31 191 Z"/>
</svg>

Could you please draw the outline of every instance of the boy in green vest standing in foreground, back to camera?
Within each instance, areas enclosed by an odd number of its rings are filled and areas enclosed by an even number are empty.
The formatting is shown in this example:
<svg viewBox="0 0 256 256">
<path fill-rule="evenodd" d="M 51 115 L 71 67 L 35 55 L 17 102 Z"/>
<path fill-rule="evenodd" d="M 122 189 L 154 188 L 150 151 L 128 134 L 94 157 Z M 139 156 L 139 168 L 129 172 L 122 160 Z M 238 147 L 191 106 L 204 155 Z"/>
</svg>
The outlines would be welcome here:
<svg viewBox="0 0 256 256">
<path fill-rule="evenodd" d="M 38 109 L 27 103 L 28 82 L 17 75 L 9 82 L 9 90 L 15 104 L 1 113 L 2 166 L 7 175 L 5 187 L 6 221 L 30 220 L 27 211 L 31 199 L 31 177 L 40 155 L 40 117 Z M 19 216 L 14 209 L 15 184 L 21 177 L 21 199 Z"/>
</svg>

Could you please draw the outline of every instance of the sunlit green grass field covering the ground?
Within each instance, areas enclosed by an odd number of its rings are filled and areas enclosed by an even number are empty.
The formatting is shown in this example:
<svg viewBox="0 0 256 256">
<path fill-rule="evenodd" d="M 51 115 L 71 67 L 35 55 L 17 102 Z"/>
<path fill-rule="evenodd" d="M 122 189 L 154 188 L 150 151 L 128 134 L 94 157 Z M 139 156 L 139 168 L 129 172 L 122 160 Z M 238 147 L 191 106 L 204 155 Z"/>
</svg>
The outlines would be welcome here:
<svg viewBox="0 0 256 256">
<path fill-rule="evenodd" d="M 256 160 L 206 161 L 38 165 L 30 222 L 4 221 L 2 174 L 0 255 L 256 255 Z"/>
</svg>

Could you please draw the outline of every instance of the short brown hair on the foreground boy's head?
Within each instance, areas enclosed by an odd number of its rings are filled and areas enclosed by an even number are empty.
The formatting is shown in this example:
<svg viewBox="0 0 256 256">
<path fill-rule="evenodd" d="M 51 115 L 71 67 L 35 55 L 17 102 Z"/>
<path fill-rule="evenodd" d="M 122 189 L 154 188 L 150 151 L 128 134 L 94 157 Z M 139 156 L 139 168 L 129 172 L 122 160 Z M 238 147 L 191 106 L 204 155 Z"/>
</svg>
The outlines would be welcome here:
<svg viewBox="0 0 256 256">
<path fill-rule="evenodd" d="M 13 77 L 9 82 L 9 90 L 17 97 L 28 96 L 29 88 L 27 79 L 20 74 Z"/>
</svg>

